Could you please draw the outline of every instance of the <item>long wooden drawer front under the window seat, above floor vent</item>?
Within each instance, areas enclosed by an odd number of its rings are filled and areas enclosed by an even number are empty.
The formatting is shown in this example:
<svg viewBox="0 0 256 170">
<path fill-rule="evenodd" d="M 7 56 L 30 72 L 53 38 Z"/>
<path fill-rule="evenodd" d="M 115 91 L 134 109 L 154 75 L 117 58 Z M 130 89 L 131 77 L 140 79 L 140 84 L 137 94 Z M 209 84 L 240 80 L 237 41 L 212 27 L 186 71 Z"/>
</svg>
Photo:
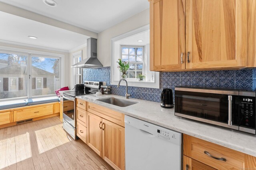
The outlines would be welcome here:
<svg viewBox="0 0 256 170">
<path fill-rule="evenodd" d="M 53 113 L 53 105 L 37 106 L 14 111 L 14 121 L 31 119 Z"/>
</svg>

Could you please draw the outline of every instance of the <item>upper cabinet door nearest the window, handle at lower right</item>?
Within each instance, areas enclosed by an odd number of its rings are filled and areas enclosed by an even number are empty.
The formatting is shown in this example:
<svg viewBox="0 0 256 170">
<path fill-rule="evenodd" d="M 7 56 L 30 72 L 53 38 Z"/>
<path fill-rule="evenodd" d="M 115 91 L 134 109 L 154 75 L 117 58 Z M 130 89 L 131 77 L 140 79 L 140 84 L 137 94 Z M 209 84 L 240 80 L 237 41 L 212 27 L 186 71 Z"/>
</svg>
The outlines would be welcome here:
<svg viewBox="0 0 256 170">
<path fill-rule="evenodd" d="M 184 6 L 185 0 L 150 1 L 150 70 L 185 69 Z"/>
</svg>

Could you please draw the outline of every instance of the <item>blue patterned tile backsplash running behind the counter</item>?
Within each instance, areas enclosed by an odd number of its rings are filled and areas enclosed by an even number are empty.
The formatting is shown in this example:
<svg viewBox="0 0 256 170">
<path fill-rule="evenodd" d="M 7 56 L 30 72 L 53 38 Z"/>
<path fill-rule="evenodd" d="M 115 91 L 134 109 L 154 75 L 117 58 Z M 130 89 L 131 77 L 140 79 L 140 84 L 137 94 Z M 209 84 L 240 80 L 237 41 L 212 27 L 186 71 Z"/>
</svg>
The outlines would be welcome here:
<svg viewBox="0 0 256 170">
<path fill-rule="evenodd" d="M 110 67 L 86 68 L 83 70 L 83 80 L 104 81 L 110 85 Z M 187 71 L 187 72 L 160 72 L 160 89 L 128 87 L 131 98 L 160 102 L 162 88 L 175 86 L 222 86 L 232 88 L 256 89 L 256 68 L 246 70 L 218 70 L 218 71 Z M 125 96 L 125 86 L 117 88 L 111 85 L 111 93 Z"/>
</svg>

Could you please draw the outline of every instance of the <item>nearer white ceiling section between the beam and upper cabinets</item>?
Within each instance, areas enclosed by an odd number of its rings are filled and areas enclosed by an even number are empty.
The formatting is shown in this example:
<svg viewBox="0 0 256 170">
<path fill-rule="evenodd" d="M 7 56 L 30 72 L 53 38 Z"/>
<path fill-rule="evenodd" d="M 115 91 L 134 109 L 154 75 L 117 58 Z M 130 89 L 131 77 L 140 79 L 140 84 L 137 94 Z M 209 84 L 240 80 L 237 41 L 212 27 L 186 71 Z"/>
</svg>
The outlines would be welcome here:
<svg viewBox="0 0 256 170">
<path fill-rule="evenodd" d="M 44 4 L 42 0 L 0 0 L 0 2 L 96 33 L 149 8 L 148 0 L 55 1 L 58 5 L 56 7 L 50 7 Z"/>
</svg>

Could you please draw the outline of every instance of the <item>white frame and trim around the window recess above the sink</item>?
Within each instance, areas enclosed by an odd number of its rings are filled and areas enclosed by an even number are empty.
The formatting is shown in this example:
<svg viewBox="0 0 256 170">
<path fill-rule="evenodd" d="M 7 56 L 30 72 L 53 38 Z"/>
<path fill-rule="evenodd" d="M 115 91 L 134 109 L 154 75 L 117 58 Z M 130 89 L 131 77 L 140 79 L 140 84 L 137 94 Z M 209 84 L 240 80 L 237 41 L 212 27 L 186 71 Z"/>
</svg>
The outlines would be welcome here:
<svg viewBox="0 0 256 170">
<path fill-rule="evenodd" d="M 140 33 L 149 31 L 149 28 L 150 27 L 149 27 L 149 24 L 148 24 L 148 25 L 145 25 L 143 27 L 140 27 L 138 29 L 132 30 L 132 31 L 127 32 L 127 33 L 124 33 L 122 35 L 119 35 L 119 36 L 114 37 L 114 38 L 111 39 L 111 67 L 110 67 L 111 75 L 110 75 L 110 84 L 118 85 L 118 82 L 119 82 L 119 80 L 121 78 L 120 71 L 117 68 L 118 63 L 116 63 L 117 59 L 120 59 L 120 57 L 121 57 L 120 56 L 121 52 L 119 51 L 117 53 L 115 51 L 116 50 L 115 48 L 121 50 L 121 46 L 119 45 L 117 47 L 117 45 L 115 45 L 115 42 L 116 41 L 120 41 L 122 39 L 125 39 L 127 37 L 131 37 L 131 36 L 136 35 L 136 34 L 140 34 Z M 149 68 L 150 68 L 149 56 L 150 56 L 149 44 L 146 44 L 144 46 L 144 63 L 145 64 L 143 66 L 144 67 L 144 73 L 143 74 L 146 74 L 146 76 L 147 76 L 146 81 L 138 81 L 137 79 L 136 80 L 129 80 L 129 79 L 127 79 L 129 86 L 147 87 L 147 88 L 160 88 L 159 72 L 151 72 L 149 70 Z M 151 76 L 154 77 L 152 81 L 150 81 Z M 121 85 L 124 86 L 125 82 L 122 81 Z"/>
</svg>

